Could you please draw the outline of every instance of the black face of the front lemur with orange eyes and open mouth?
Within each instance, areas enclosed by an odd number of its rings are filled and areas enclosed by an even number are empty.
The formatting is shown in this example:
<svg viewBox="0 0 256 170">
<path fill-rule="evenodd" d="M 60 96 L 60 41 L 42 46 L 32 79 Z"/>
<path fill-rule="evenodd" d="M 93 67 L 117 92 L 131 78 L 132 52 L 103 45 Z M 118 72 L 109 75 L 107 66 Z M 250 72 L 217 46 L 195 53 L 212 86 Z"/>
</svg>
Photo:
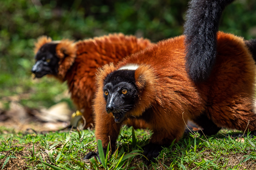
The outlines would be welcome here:
<svg viewBox="0 0 256 170">
<path fill-rule="evenodd" d="M 134 73 L 134 70 L 117 70 L 104 80 L 102 93 L 107 103 L 106 111 L 113 114 L 117 123 L 125 118 L 126 112 L 134 107 L 138 98 Z"/>
</svg>

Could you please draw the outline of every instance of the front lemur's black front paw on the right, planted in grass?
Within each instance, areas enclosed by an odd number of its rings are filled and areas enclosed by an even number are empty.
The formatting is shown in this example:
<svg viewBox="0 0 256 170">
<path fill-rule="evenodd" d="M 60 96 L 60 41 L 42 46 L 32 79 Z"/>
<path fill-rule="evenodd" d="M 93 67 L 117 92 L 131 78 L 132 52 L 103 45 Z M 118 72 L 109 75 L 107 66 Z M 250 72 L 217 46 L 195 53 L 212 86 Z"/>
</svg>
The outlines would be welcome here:
<svg viewBox="0 0 256 170">
<path fill-rule="evenodd" d="M 159 152 L 162 150 L 162 146 L 158 144 L 149 143 L 148 145 L 144 146 L 144 153 L 143 155 L 148 158 L 148 160 L 145 157 L 142 157 L 142 160 L 145 162 L 146 165 L 149 165 L 150 162 L 156 162 L 154 158 L 157 158 L 159 155 Z"/>
</svg>

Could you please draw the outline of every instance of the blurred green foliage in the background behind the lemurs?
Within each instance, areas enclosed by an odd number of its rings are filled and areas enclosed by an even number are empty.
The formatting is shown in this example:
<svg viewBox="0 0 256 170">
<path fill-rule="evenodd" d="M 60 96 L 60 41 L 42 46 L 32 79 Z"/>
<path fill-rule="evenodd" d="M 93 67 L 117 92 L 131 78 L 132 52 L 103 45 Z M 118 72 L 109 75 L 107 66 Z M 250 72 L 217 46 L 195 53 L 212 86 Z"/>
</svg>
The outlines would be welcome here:
<svg viewBox="0 0 256 170">
<path fill-rule="evenodd" d="M 153 42 L 181 35 L 188 0 L 4 0 L 0 1 L 0 104 L 20 97 L 28 107 L 49 107 L 68 97 L 53 78 L 32 80 L 33 46 L 40 35 L 74 40 L 113 32 Z M 256 1 L 238 0 L 224 11 L 220 30 L 256 37 Z"/>
</svg>

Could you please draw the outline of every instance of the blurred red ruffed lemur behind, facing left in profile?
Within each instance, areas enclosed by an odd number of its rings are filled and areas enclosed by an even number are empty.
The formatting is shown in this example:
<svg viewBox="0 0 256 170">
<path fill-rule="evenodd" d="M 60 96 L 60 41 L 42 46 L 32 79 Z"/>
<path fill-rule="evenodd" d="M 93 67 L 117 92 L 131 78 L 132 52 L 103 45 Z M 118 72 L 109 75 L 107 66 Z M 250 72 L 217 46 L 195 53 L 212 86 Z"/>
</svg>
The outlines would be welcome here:
<svg viewBox="0 0 256 170">
<path fill-rule="evenodd" d="M 84 41 L 52 41 L 42 36 L 35 43 L 36 63 L 32 73 L 37 78 L 51 75 L 67 81 L 71 98 L 86 119 L 84 128 L 92 127 L 92 99 L 96 91 L 95 72 L 106 63 L 117 63 L 125 56 L 139 52 L 152 43 L 121 33 Z M 146 128 L 143 120 L 130 122 L 135 128 Z"/>
</svg>

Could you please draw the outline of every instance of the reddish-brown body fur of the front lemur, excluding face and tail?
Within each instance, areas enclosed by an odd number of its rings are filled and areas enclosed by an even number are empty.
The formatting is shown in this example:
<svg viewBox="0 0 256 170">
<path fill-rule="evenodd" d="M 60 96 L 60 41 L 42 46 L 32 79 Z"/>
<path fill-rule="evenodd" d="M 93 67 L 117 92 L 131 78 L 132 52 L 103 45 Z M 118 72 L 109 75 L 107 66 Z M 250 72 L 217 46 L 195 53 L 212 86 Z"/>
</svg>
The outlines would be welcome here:
<svg viewBox="0 0 256 170">
<path fill-rule="evenodd" d="M 105 77 L 127 64 L 138 64 L 135 80 L 139 101 L 127 115 L 144 116 L 154 132 L 150 142 L 170 145 L 181 138 L 187 120 L 203 112 L 220 127 L 245 130 L 256 129 L 254 110 L 255 61 L 242 38 L 219 32 L 216 64 L 206 82 L 195 84 L 185 71 L 184 36 L 179 36 L 125 58 L 116 67 L 105 65 L 97 74 L 94 112 L 96 138 L 107 147 L 109 136 L 112 147 L 119 135 L 121 124 L 105 110 L 103 97 Z M 144 114 L 143 112 L 148 109 Z M 130 117 L 129 116 L 129 117 Z M 184 120 L 183 120 L 184 119 Z"/>
</svg>

